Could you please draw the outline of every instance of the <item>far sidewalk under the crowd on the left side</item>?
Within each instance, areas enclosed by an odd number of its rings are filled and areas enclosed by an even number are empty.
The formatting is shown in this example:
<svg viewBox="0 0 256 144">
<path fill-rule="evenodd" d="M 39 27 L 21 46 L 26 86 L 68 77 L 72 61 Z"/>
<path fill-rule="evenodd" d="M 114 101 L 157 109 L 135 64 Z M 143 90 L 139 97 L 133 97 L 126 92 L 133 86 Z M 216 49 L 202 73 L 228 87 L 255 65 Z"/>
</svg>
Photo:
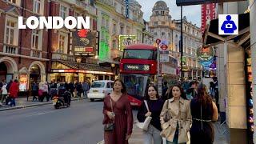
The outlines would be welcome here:
<svg viewBox="0 0 256 144">
<path fill-rule="evenodd" d="M 80 99 L 84 99 L 84 98 L 71 98 L 71 101 L 77 101 Z M 46 102 L 46 100 L 44 102 L 38 102 L 32 101 L 32 98 L 29 98 L 29 101 L 26 101 L 26 98 L 16 98 L 16 106 L 0 106 L 0 111 L 4 111 L 4 110 L 15 110 L 15 109 L 22 109 L 22 108 L 26 108 L 26 107 L 32 107 L 32 106 L 42 106 L 42 105 L 48 105 L 51 104 L 52 101 L 50 100 L 49 102 Z"/>
</svg>

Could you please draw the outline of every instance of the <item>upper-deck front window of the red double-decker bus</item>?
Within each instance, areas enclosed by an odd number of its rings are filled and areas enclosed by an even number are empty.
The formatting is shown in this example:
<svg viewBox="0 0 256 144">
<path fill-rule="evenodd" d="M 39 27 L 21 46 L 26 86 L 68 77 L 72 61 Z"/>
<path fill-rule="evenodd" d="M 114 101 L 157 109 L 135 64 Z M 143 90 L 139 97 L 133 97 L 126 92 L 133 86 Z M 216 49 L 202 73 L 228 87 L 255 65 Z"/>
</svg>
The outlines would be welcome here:
<svg viewBox="0 0 256 144">
<path fill-rule="evenodd" d="M 126 59 L 156 59 L 154 50 L 124 50 L 123 58 Z"/>
</svg>

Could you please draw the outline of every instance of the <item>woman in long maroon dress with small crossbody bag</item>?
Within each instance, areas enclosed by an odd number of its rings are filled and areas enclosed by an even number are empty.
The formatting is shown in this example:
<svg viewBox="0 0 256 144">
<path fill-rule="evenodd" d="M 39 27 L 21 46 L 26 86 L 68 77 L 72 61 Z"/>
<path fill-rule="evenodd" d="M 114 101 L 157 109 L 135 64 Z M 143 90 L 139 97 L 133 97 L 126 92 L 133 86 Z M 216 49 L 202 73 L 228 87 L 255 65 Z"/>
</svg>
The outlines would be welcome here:
<svg viewBox="0 0 256 144">
<path fill-rule="evenodd" d="M 105 144 L 128 144 L 134 119 L 126 86 L 119 79 L 114 81 L 113 92 L 104 98 L 103 114 Z"/>
</svg>

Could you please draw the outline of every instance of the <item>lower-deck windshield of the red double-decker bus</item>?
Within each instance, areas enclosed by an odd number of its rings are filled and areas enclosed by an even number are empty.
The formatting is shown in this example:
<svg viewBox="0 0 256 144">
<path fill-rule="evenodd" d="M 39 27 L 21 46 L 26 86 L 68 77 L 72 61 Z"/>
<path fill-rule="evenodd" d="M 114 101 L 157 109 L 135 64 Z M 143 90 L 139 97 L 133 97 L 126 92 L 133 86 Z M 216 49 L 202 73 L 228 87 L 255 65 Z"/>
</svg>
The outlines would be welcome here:
<svg viewBox="0 0 256 144">
<path fill-rule="evenodd" d="M 141 74 L 122 74 L 127 94 L 144 97 L 149 76 Z"/>
</svg>

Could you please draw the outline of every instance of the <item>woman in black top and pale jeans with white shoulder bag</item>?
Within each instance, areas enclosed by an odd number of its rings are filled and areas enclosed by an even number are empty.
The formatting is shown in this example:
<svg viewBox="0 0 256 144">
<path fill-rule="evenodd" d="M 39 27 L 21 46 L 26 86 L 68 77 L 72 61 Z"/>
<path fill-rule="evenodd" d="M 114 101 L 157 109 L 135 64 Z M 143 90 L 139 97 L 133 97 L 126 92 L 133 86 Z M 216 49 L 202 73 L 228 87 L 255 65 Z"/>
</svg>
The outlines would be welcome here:
<svg viewBox="0 0 256 144">
<path fill-rule="evenodd" d="M 152 144 L 152 138 L 154 144 L 161 144 L 162 137 L 160 113 L 162 110 L 163 101 L 159 98 L 158 90 L 155 86 L 149 86 L 145 92 L 145 101 L 142 103 L 138 110 L 137 118 L 138 122 L 145 122 L 147 117 L 151 117 L 150 124 L 147 130 L 144 130 L 144 144 Z"/>
</svg>

